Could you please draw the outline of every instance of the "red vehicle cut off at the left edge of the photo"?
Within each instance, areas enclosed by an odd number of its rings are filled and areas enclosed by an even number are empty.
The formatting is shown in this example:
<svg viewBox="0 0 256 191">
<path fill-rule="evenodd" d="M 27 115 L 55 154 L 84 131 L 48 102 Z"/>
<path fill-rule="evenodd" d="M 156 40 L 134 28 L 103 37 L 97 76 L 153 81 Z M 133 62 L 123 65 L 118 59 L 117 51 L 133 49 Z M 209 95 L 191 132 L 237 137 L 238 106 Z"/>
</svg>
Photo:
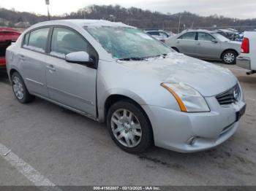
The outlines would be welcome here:
<svg viewBox="0 0 256 191">
<path fill-rule="evenodd" d="M 0 27 L 0 69 L 6 68 L 5 50 L 20 36 L 20 31 L 12 28 Z"/>
</svg>

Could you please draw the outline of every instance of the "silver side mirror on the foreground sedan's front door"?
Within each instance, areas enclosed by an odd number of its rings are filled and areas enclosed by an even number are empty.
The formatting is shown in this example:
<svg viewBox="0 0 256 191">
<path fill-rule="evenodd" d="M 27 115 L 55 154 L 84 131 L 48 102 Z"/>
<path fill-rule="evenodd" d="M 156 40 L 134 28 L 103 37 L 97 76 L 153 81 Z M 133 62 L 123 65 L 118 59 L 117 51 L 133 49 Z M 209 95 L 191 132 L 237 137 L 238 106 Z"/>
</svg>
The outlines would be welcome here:
<svg viewBox="0 0 256 191">
<path fill-rule="evenodd" d="M 94 60 L 90 58 L 89 54 L 84 51 L 71 52 L 66 55 L 66 61 L 69 63 L 83 64 L 89 67 L 94 66 Z"/>
</svg>

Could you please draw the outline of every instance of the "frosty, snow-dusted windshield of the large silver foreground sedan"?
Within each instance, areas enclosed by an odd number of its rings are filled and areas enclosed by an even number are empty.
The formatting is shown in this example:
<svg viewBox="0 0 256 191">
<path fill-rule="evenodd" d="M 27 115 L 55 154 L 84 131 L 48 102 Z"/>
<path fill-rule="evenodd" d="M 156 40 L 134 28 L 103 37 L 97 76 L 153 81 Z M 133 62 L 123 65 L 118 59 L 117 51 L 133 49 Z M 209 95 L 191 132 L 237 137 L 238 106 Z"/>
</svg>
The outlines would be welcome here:
<svg viewBox="0 0 256 191">
<path fill-rule="evenodd" d="M 170 47 L 136 28 L 97 27 L 86 28 L 86 31 L 119 60 L 141 60 L 173 52 Z"/>
</svg>

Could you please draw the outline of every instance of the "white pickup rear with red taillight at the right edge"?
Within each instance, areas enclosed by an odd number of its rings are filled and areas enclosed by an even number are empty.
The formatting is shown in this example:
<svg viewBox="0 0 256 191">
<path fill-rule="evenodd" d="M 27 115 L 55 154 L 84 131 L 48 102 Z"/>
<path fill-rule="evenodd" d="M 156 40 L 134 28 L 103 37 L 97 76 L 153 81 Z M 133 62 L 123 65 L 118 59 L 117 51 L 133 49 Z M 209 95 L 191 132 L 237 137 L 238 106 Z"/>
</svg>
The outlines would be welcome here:
<svg viewBox="0 0 256 191">
<path fill-rule="evenodd" d="M 250 70 L 247 74 L 256 73 L 256 31 L 244 32 L 241 44 L 241 55 L 236 58 L 237 65 Z"/>
</svg>

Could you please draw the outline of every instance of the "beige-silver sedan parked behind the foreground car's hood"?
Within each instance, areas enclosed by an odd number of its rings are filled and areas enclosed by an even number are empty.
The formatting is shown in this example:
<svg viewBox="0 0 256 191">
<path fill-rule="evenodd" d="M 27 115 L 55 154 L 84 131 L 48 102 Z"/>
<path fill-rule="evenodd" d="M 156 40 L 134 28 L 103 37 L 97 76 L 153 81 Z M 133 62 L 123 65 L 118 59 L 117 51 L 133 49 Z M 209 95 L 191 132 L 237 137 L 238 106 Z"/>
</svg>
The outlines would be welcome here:
<svg viewBox="0 0 256 191">
<path fill-rule="evenodd" d="M 206 30 L 185 31 L 166 40 L 174 50 L 196 58 L 217 59 L 235 64 L 241 42 L 232 42 L 221 34 Z"/>
</svg>

